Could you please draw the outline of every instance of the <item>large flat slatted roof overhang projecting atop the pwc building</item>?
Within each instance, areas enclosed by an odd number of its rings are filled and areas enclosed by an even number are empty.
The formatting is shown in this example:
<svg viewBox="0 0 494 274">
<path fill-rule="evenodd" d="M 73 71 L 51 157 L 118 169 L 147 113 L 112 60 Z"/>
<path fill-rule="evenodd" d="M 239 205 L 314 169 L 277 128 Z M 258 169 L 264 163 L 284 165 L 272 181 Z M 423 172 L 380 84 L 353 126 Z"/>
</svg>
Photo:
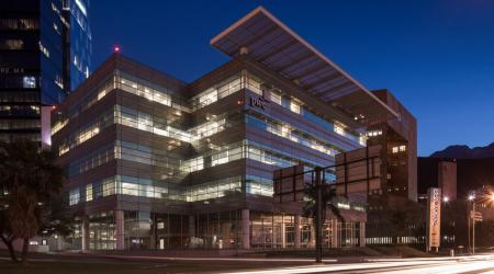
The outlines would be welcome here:
<svg viewBox="0 0 494 274">
<path fill-rule="evenodd" d="M 211 39 L 231 57 L 248 55 L 363 125 L 398 117 L 366 87 L 259 7 Z"/>
</svg>

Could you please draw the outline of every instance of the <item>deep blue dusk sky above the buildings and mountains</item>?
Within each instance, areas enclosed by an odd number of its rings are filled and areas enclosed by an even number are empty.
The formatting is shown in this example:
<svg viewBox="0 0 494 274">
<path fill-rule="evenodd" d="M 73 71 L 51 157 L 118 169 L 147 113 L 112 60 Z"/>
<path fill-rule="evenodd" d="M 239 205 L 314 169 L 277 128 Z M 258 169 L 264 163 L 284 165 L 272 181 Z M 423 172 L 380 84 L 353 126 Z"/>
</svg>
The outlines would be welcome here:
<svg viewBox="0 0 494 274">
<path fill-rule="evenodd" d="M 227 60 L 210 39 L 263 5 L 418 121 L 418 153 L 494 141 L 494 1 L 91 1 L 93 62 L 122 53 L 191 81 Z"/>
</svg>

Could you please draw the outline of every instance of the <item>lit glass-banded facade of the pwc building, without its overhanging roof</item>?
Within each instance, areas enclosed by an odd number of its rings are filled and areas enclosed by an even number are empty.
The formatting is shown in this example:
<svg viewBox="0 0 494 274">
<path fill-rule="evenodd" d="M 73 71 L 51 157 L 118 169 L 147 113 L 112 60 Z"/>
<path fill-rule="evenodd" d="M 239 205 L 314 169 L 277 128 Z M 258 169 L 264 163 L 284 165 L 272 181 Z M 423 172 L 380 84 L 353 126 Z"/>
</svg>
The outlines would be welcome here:
<svg viewBox="0 0 494 274">
<path fill-rule="evenodd" d="M 314 246 L 312 219 L 300 210 L 263 209 L 273 204 L 272 172 L 329 165 L 364 145 L 360 132 L 266 89 L 272 84 L 246 65 L 187 84 L 119 54 L 106 64 L 52 113 L 67 203 L 85 212 L 74 247 Z M 251 101 L 260 98 L 263 107 Z M 359 246 L 359 224 L 328 219 L 325 247 Z"/>
</svg>

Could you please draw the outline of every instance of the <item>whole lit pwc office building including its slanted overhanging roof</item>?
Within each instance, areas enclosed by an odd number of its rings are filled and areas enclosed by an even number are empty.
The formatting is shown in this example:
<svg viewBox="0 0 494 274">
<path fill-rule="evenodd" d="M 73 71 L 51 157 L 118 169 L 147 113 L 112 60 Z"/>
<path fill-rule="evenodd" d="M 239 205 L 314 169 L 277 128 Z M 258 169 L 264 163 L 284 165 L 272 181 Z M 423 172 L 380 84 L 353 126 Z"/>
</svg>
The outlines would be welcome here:
<svg viewBox="0 0 494 274">
<path fill-rule="evenodd" d="M 397 117 L 262 8 L 211 45 L 231 59 L 190 83 L 115 53 L 52 112 L 72 248 L 312 247 L 301 204 L 273 199 L 273 171 L 335 164 Z M 324 246 L 362 246 L 364 204 L 338 206 Z"/>
</svg>

